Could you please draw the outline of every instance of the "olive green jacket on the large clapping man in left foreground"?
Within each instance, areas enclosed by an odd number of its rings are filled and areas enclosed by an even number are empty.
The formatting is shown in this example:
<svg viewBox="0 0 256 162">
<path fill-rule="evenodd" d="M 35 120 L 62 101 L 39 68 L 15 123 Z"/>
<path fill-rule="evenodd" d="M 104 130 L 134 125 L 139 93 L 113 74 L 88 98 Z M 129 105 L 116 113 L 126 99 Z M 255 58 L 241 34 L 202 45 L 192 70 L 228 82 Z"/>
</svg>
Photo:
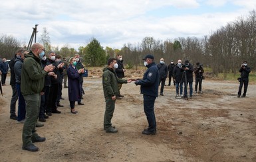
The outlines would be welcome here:
<svg viewBox="0 0 256 162">
<path fill-rule="evenodd" d="M 25 58 L 21 71 L 21 93 L 22 95 L 41 93 L 47 72 L 43 70 L 40 58 L 37 58 L 32 51 Z"/>
</svg>

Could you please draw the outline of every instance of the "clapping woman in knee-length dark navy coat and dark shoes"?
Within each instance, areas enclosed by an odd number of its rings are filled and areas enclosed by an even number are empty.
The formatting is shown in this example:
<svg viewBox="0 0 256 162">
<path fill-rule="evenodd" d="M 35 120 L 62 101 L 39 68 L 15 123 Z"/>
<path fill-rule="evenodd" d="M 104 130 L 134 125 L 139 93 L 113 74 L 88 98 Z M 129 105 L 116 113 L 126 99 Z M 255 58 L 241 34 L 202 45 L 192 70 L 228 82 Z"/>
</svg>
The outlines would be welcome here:
<svg viewBox="0 0 256 162">
<path fill-rule="evenodd" d="M 66 74 L 68 75 L 68 100 L 70 103 L 70 112 L 76 114 L 77 111 L 74 109 L 74 102 L 81 99 L 79 74 L 83 73 L 84 69 L 76 69 L 76 59 L 74 57 L 69 59 L 69 63 L 68 69 L 66 70 Z"/>
</svg>

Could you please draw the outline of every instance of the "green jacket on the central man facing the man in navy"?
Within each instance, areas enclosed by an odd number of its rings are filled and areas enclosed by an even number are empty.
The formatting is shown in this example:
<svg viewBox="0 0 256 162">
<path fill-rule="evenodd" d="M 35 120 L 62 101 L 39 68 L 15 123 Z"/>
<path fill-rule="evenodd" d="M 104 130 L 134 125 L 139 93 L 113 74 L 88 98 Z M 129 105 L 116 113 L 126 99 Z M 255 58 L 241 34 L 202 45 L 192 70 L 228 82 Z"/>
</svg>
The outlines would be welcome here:
<svg viewBox="0 0 256 162">
<path fill-rule="evenodd" d="M 105 67 L 102 74 L 104 97 L 118 95 L 118 83 L 127 83 L 127 80 L 118 79 L 116 72 L 113 69 L 110 67 Z"/>
</svg>

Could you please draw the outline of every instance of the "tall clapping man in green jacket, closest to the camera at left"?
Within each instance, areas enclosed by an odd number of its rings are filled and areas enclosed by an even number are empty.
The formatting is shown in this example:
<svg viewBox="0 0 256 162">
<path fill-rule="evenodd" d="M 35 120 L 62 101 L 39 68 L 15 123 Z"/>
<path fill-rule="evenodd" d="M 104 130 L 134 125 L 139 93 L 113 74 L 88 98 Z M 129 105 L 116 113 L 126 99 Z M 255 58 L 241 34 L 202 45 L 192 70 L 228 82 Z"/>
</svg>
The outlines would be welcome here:
<svg viewBox="0 0 256 162">
<path fill-rule="evenodd" d="M 41 95 L 45 86 L 45 75 L 53 71 L 53 65 L 46 65 L 43 69 L 41 58 L 45 54 L 45 49 L 41 44 L 35 43 L 31 47 L 29 54 L 25 56 L 21 71 L 21 93 L 26 101 L 26 120 L 23 125 L 22 149 L 27 151 L 38 151 L 39 147 L 34 142 L 44 142 L 35 130 L 35 124 L 39 116 Z"/>
</svg>

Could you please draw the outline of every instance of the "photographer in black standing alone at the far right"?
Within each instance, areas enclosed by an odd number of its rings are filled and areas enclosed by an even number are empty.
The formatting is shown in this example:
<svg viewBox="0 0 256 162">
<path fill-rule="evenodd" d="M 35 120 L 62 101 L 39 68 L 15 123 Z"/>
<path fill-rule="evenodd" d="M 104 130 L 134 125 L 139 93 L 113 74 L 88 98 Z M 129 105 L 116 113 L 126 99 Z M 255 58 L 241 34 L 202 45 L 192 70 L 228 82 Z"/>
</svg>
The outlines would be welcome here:
<svg viewBox="0 0 256 162">
<path fill-rule="evenodd" d="M 241 91 L 242 91 L 243 85 L 245 85 L 245 87 L 243 89 L 243 95 L 241 97 L 245 97 L 246 92 L 247 92 L 248 83 L 249 83 L 249 73 L 251 72 L 251 68 L 247 66 L 247 61 L 243 61 L 243 63 L 241 64 L 241 67 L 239 69 L 239 72 L 241 73 L 241 75 L 240 75 L 240 79 L 239 79 L 240 85 L 239 85 L 237 97 L 241 96 Z"/>
</svg>

